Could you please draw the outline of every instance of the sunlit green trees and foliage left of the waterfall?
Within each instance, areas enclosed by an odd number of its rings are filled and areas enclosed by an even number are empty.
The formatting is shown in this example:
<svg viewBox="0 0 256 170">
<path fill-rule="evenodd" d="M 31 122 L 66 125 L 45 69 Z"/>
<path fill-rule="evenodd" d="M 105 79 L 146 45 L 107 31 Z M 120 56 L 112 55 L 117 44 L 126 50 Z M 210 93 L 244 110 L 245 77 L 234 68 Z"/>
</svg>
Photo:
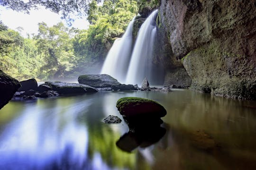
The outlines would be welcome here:
<svg viewBox="0 0 256 170">
<path fill-rule="evenodd" d="M 15 6 L 5 1 L 5 6 Z M 23 38 L 0 22 L 0 68 L 19 80 L 77 78 L 91 73 L 90 70 L 103 63 L 114 39 L 125 32 L 137 13 L 137 2 L 104 0 L 99 6 L 92 0 L 88 6 L 86 12 L 91 23 L 88 30 L 70 29 L 63 23 L 48 27 L 42 22 L 38 24 L 37 35 Z"/>
</svg>

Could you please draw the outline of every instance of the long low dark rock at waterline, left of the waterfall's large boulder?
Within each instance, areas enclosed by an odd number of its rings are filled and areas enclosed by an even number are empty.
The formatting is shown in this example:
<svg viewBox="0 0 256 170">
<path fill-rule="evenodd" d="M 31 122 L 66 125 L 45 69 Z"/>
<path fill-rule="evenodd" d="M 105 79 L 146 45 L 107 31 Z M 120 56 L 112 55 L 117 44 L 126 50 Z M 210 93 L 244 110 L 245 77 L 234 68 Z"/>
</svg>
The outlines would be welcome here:
<svg viewBox="0 0 256 170">
<path fill-rule="evenodd" d="M 61 94 L 82 94 L 98 92 L 96 88 L 78 83 L 46 82 L 46 84 L 51 85 L 54 91 L 57 91 Z"/>
</svg>

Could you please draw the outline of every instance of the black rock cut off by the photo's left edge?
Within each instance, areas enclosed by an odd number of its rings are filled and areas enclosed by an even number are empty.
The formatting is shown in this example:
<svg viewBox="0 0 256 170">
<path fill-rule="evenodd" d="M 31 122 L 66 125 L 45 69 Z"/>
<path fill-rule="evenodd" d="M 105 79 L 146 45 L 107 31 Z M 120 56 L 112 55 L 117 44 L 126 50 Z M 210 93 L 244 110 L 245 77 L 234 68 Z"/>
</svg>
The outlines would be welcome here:
<svg viewBox="0 0 256 170">
<path fill-rule="evenodd" d="M 18 80 L 0 70 L 0 109 L 11 100 L 19 87 Z"/>
</svg>

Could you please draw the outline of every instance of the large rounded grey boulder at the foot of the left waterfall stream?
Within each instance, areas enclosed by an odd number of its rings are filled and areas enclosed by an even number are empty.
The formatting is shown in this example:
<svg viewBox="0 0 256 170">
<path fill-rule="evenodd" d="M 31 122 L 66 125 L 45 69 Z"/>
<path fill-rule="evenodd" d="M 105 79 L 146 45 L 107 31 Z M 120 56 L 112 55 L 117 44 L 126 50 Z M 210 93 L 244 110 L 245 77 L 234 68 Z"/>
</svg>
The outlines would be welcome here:
<svg viewBox="0 0 256 170">
<path fill-rule="evenodd" d="M 78 82 L 83 85 L 90 85 L 91 87 L 104 88 L 112 85 L 121 85 L 117 79 L 107 74 L 101 75 L 82 75 L 78 77 Z"/>
</svg>

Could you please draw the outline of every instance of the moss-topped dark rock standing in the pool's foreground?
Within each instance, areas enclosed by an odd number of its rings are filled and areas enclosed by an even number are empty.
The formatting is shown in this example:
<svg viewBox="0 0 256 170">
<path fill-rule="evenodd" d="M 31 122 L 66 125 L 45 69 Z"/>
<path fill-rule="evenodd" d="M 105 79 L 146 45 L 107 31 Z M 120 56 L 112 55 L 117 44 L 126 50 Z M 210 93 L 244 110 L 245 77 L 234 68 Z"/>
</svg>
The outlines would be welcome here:
<svg viewBox="0 0 256 170">
<path fill-rule="evenodd" d="M 153 100 L 139 97 L 124 97 L 118 100 L 116 107 L 124 117 L 150 116 L 161 118 L 166 115 L 165 108 Z"/>
</svg>

